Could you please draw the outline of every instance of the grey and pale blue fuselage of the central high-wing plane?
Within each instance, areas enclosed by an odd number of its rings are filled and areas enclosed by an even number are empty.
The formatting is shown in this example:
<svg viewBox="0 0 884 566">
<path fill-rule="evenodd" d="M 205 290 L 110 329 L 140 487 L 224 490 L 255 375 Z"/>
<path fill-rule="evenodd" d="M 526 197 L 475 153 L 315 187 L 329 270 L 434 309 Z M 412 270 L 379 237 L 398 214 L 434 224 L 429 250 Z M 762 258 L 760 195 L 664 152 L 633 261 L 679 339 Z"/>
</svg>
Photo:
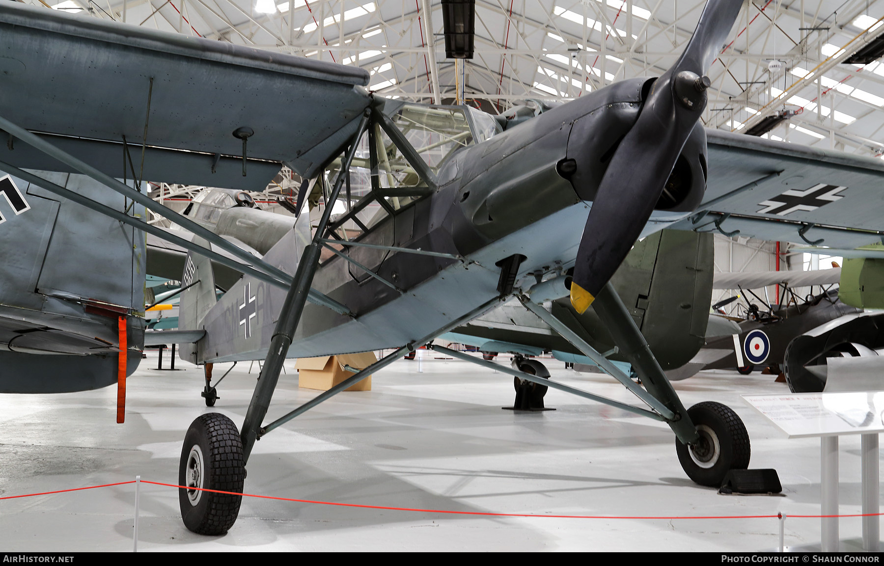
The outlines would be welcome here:
<svg viewBox="0 0 884 566">
<path fill-rule="evenodd" d="M 451 253 L 465 261 L 366 248 L 349 252 L 399 292 L 340 257 L 324 260 L 313 288 L 355 317 L 308 304 L 288 356 L 377 350 L 431 334 L 499 295 L 495 264 L 513 254 L 525 257 L 519 277 L 531 274 L 532 283 L 534 274 L 572 265 L 606 158 L 635 122 L 644 84 L 622 81 L 454 152 L 438 168 L 438 188 L 370 226 L 357 241 Z M 681 220 L 702 198 L 701 127 L 682 155 L 673 174 L 677 199 L 661 200 L 666 209 L 653 213 L 642 236 Z M 568 160 L 573 165 L 563 167 Z M 293 274 L 309 238 L 306 218 L 264 260 Z M 285 296 L 285 290 L 244 276 L 202 321 L 207 336 L 194 361 L 263 358 Z M 255 316 L 240 324 L 253 306 Z"/>
</svg>

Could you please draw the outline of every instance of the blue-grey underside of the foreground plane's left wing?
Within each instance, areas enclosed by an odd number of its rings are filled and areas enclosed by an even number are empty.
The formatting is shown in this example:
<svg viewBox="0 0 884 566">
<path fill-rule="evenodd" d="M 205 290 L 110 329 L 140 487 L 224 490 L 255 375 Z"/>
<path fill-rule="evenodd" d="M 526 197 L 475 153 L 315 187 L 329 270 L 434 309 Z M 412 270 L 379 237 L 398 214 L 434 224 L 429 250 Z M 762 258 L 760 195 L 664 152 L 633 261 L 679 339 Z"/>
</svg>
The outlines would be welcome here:
<svg viewBox="0 0 884 566">
<path fill-rule="evenodd" d="M 282 163 L 312 177 L 371 102 L 359 68 L 13 2 L 0 4 L 0 53 L 0 116 L 113 177 L 141 174 L 145 132 L 152 181 L 263 190 Z M 239 128 L 254 132 L 246 177 Z M 0 160 L 67 171 L 4 138 Z"/>
</svg>

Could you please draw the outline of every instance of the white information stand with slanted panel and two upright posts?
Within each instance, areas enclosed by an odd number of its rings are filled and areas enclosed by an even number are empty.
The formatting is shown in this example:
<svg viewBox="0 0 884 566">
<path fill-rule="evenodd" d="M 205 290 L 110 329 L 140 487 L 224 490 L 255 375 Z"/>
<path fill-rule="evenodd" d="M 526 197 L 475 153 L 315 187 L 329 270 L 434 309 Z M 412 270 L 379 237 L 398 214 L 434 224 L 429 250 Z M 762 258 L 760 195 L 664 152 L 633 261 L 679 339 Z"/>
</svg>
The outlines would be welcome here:
<svg viewBox="0 0 884 566">
<path fill-rule="evenodd" d="M 863 514 L 879 513 L 878 434 L 884 391 L 743 395 L 789 438 L 820 437 L 820 515 L 838 515 L 838 436 L 862 434 Z M 821 550 L 838 551 L 838 517 L 822 517 Z M 863 547 L 880 548 L 880 517 L 863 517 Z"/>
</svg>

